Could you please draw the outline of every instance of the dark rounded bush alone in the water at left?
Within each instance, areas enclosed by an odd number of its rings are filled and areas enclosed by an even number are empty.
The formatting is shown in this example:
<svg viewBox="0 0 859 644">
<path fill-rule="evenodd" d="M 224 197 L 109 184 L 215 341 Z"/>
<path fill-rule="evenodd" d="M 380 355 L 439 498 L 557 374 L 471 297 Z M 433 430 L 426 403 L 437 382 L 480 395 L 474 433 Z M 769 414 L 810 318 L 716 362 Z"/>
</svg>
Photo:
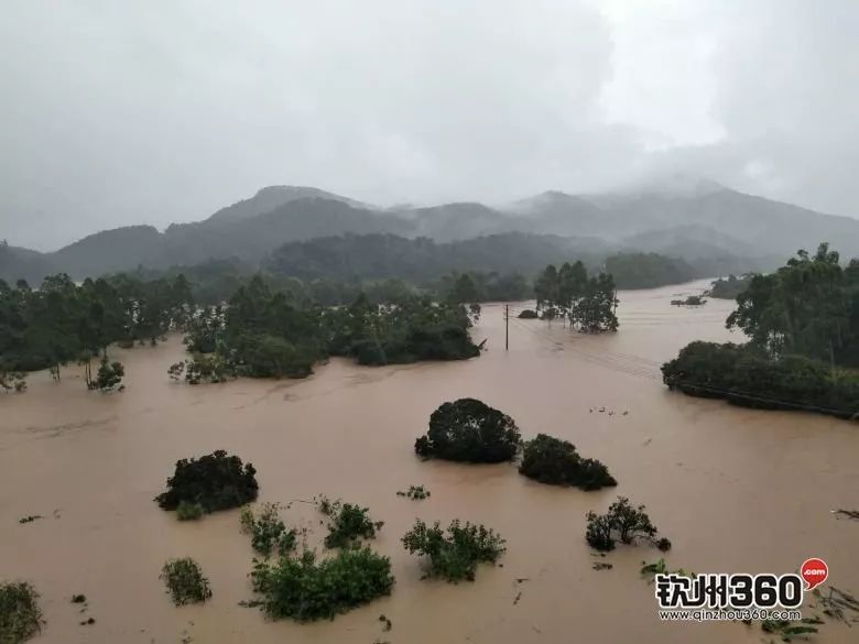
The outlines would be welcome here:
<svg viewBox="0 0 859 644">
<path fill-rule="evenodd" d="M 155 496 L 164 510 L 176 510 L 181 502 L 198 503 L 206 512 L 239 507 L 257 498 L 257 470 L 242 467 L 238 456 L 217 450 L 198 459 L 176 462 L 176 472 L 167 479 L 167 491 Z"/>
</svg>

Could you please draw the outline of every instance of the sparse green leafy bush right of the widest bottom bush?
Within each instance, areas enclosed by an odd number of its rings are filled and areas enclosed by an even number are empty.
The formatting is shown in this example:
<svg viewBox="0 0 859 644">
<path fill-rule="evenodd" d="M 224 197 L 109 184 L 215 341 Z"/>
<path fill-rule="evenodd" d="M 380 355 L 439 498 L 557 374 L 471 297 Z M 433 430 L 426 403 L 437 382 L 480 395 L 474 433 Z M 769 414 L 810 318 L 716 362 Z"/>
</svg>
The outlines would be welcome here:
<svg viewBox="0 0 859 644">
<path fill-rule="evenodd" d="M 402 538 L 403 546 L 430 560 L 430 575 L 447 581 L 475 580 L 477 565 L 494 564 L 504 554 L 504 539 L 483 525 L 472 525 L 454 520 L 442 531 L 436 521 L 432 527 L 416 520 L 412 530 Z"/>
</svg>

